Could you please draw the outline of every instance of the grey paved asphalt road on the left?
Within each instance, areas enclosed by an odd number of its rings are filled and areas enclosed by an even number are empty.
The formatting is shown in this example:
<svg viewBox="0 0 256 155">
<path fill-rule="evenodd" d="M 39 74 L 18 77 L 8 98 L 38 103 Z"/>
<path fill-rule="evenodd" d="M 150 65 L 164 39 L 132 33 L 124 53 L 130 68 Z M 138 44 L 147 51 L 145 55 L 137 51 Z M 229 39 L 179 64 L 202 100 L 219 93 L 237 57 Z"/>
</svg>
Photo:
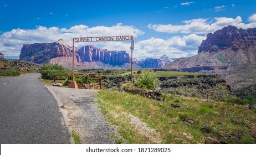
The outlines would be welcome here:
<svg viewBox="0 0 256 155">
<path fill-rule="evenodd" d="M 0 78 L 0 143 L 71 143 L 40 74 Z"/>
</svg>

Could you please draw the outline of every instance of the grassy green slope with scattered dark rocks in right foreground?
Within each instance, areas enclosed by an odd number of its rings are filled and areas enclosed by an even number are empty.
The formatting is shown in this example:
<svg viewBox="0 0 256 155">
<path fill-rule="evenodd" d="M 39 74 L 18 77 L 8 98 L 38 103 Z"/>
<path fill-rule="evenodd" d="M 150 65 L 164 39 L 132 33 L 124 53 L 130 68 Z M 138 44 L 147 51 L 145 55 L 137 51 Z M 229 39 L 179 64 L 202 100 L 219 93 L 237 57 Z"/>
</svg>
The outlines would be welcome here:
<svg viewBox="0 0 256 155">
<path fill-rule="evenodd" d="M 157 101 L 101 90 L 96 102 L 118 127 L 116 143 L 255 143 L 255 109 L 226 102 L 166 96 Z"/>
</svg>

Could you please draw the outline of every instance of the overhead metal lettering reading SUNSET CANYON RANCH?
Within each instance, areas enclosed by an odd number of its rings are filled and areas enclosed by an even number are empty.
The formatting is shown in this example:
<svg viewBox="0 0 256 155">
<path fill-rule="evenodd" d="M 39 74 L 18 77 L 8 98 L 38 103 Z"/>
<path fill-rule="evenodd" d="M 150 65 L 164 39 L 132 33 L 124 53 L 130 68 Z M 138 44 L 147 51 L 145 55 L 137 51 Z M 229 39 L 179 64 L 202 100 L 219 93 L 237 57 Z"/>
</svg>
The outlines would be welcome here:
<svg viewBox="0 0 256 155">
<path fill-rule="evenodd" d="M 74 42 L 110 42 L 110 41 L 125 41 L 125 40 L 132 40 L 132 35 L 74 38 Z"/>
</svg>

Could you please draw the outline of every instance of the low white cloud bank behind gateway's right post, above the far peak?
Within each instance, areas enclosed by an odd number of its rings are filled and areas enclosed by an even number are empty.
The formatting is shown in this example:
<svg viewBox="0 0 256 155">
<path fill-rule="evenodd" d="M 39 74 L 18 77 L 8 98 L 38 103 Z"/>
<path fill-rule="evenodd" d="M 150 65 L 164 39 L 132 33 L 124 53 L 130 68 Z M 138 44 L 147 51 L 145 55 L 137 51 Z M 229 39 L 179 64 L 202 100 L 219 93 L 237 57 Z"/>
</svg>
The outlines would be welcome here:
<svg viewBox="0 0 256 155">
<path fill-rule="evenodd" d="M 150 38 L 135 42 L 134 58 L 160 58 L 163 54 L 170 58 L 180 58 L 181 56 L 191 56 L 197 54 L 198 46 L 206 37 L 196 34 L 176 36 L 169 39 Z M 104 47 L 109 50 L 126 50 L 130 54 L 130 43 L 105 42 Z"/>
</svg>

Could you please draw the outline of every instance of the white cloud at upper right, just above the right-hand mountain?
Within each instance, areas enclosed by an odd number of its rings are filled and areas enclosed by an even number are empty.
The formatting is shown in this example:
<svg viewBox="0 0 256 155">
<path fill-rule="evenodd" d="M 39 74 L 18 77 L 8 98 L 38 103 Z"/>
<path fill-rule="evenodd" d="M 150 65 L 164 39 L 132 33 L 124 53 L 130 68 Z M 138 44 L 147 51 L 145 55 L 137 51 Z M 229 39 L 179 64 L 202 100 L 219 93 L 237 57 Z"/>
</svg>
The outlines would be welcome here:
<svg viewBox="0 0 256 155">
<path fill-rule="evenodd" d="M 222 29 L 228 25 L 233 25 L 238 28 L 254 28 L 256 27 L 256 15 L 250 16 L 249 20 L 251 23 L 245 24 L 240 16 L 237 18 L 199 18 L 192 20 L 185 20 L 181 25 L 172 25 L 172 24 L 149 24 L 147 27 L 150 29 L 156 30 L 157 32 L 164 33 L 185 33 L 185 34 L 207 34 L 213 33 L 218 29 Z"/>
</svg>

